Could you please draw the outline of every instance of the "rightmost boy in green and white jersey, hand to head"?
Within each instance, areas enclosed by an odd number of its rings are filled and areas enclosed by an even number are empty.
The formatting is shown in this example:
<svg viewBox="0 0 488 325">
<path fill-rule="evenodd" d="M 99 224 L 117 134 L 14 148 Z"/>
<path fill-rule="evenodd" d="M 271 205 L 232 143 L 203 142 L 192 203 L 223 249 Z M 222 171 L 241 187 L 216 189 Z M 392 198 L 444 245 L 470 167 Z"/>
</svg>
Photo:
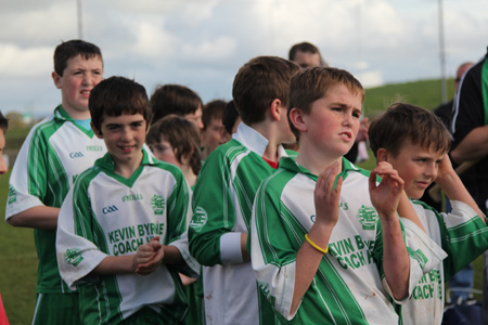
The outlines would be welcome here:
<svg viewBox="0 0 488 325">
<path fill-rule="evenodd" d="M 445 282 L 488 248 L 485 217 L 452 169 L 449 132 L 432 112 L 393 104 L 372 121 L 370 145 L 377 161 L 387 161 L 398 171 L 427 235 L 448 252 L 414 288 L 402 309 L 403 323 L 440 324 Z M 415 200 L 434 181 L 451 200 L 450 213 L 438 213 Z"/>
</svg>

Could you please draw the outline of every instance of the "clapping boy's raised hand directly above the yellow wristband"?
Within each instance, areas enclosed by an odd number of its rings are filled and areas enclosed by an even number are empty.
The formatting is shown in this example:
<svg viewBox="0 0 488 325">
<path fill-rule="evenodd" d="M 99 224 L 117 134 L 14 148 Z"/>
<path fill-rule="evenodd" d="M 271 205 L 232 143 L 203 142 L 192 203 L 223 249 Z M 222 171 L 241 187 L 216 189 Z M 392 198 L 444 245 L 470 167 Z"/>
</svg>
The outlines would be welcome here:
<svg viewBox="0 0 488 325">
<path fill-rule="evenodd" d="M 313 191 L 313 200 L 316 204 L 316 224 L 323 223 L 334 226 L 338 219 L 338 207 L 341 198 L 341 188 L 343 178 L 337 179 L 334 188 L 334 182 L 339 172 L 339 162 L 334 162 L 319 174 L 316 190 Z"/>
</svg>

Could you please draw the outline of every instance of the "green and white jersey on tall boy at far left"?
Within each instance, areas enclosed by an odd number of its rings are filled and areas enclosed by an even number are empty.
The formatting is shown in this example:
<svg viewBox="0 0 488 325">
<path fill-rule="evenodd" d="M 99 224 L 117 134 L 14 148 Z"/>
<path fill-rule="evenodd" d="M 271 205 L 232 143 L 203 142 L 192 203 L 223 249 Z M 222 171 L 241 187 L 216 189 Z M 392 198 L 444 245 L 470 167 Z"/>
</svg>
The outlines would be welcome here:
<svg viewBox="0 0 488 325">
<path fill-rule="evenodd" d="M 106 153 L 92 130 L 78 127 L 60 106 L 30 130 L 12 169 L 5 221 L 36 206 L 61 207 L 75 179 Z M 37 291 L 70 290 L 61 280 L 55 256 L 55 230 L 34 230 L 39 257 Z"/>
</svg>

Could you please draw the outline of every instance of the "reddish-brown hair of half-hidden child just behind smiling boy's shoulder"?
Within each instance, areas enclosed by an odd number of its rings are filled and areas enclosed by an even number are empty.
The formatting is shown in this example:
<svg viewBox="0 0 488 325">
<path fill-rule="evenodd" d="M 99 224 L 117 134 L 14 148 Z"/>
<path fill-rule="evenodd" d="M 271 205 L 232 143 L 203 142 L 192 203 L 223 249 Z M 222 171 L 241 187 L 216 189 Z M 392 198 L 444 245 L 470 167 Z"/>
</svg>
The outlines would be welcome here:
<svg viewBox="0 0 488 325">
<path fill-rule="evenodd" d="M 162 136 L 171 144 L 175 157 L 182 164 L 182 157 L 189 155 L 190 167 L 194 174 L 202 168 L 200 156 L 200 132 L 195 123 L 170 114 L 151 126 L 145 142 L 149 146 L 159 143 Z"/>
</svg>

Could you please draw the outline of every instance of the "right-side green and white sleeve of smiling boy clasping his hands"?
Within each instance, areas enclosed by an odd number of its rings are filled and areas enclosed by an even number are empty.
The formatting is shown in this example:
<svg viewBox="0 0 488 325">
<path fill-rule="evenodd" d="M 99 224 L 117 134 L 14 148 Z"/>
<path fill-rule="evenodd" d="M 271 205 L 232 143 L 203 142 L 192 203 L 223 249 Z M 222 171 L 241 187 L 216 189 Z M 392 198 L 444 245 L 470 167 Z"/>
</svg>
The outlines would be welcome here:
<svg viewBox="0 0 488 325">
<path fill-rule="evenodd" d="M 185 265 L 178 271 L 181 273 L 196 277 L 200 274 L 198 262 L 190 255 L 188 245 L 188 224 L 191 219 L 191 190 L 184 180 L 184 177 L 177 178 L 175 188 L 169 197 L 168 210 L 168 239 L 166 245 L 178 248 L 183 258 Z"/>
</svg>

